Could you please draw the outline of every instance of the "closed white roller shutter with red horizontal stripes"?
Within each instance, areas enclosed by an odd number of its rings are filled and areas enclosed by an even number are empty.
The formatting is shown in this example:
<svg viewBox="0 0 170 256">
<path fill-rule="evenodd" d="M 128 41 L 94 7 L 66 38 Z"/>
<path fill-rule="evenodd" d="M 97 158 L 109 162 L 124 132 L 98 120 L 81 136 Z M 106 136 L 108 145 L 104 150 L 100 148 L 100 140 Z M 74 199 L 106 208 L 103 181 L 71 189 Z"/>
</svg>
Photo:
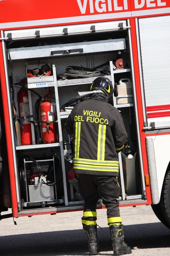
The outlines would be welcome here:
<svg viewBox="0 0 170 256">
<path fill-rule="evenodd" d="M 147 126 L 170 127 L 170 16 L 139 19 Z"/>
</svg>

